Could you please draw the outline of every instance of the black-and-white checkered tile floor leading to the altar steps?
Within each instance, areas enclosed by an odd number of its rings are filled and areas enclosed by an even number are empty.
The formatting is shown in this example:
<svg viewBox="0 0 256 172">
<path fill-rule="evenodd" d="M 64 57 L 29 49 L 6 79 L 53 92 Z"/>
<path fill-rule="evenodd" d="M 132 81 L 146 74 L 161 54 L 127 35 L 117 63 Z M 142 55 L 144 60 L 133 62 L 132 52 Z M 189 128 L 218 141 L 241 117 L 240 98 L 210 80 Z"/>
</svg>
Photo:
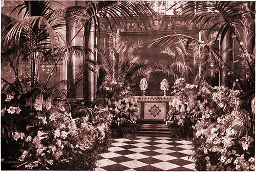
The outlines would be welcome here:
<svg viewBox="0 0 256 172">
<path fill-rule="evenodd" d="M 193 171 L 194 162 L 188 157 L 192 147 L 190 141 L 170 137 L 114 139 L 95 170 Z"/>
</svg>

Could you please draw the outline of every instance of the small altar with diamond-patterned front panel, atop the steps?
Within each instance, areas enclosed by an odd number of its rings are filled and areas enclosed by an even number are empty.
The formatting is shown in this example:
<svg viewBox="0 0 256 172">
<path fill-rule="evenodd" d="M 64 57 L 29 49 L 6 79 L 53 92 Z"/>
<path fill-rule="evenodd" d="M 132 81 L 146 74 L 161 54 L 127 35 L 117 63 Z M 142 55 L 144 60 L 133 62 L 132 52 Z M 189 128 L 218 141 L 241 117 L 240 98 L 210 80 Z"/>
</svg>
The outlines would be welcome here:
<svg viewBox="0 0 256 172">
<path fill-rule="evenodd" d="M 143 121 L 163 121 L 169 111 L 170 96 L 134 96 L 138 103 L 138 119 Z"/>
</svg>

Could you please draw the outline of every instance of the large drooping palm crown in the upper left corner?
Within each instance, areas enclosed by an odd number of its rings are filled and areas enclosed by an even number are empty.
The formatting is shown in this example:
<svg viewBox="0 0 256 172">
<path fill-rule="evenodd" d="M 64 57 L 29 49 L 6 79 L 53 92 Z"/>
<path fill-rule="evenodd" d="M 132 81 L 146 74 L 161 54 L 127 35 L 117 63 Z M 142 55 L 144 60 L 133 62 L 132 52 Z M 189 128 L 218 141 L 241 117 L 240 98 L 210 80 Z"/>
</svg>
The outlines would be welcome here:
<svg viewBox="0 0 256 172">
<path fill-rule="evenodd" d="M 30 75 L 31 89 L 37 81 L 41 65 L 54 64 L 45 82 L 48 83 L 61 57 L 70 50 L 63 46 L 60 30 L 65 26 L 63 11 L 52 10 L 48 1 L 25 1 L 18 5 L 22 19 L 15 20 L 2 31 L 2 60 L 7 60 L 17 78 L 18 64 L 25 62 L 26 76 Z M 15 10 L 14 9 L 14 10 Z M 23 88 L 20 85 L 20 89 Z"/>
</svg>

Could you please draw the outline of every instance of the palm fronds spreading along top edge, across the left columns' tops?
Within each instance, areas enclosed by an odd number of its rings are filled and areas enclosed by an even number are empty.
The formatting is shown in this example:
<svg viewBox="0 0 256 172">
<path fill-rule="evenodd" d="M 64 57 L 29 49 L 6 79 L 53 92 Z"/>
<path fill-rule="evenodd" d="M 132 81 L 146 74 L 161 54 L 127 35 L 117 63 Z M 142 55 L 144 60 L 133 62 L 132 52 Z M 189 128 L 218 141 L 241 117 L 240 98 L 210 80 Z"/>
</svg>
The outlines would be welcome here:
<svg viewBox="0 0 256 172">
<path fill-rule="evenodd" d="M 75 36 L 86 27 L 86 31 L 92 26 L 92 22 L 95 25 L 95 29 L 100 34 L 100 19 L 104 18 L 111 29 L 113 26 L 111 20 L 118 27 L 122 25 L 123 19 L 140 19 L 146 21 L 148 18 L 156 15 L 153 10 L 153 3 L 146 1 L 89 1 L 86 6 L 72 6 L 66 10 L 66 16 L 68 16 L 68 22 L 77 24 L 78 21 L 82 21 L 82 25 Z M 74 36 L 74 37 L 75 37 Z M 73 38 L 74 38 L 73 37 Z M 84 35 L 86 41 L 89 38 L 89 32 L 85 32 Z M 73 39 L 72 38 L 72 39 Z M 71 41 L 72 41 L 71 39 Z"/>
</svg>

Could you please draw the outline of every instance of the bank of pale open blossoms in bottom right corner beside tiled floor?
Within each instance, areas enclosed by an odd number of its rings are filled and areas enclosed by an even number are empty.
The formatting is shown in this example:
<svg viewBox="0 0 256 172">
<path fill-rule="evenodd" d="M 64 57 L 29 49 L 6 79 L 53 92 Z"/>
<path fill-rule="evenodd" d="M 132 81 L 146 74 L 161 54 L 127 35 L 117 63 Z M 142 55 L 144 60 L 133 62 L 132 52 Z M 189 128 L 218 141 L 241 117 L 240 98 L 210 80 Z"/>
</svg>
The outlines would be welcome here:
<svg viewBox="0 0 256 172">
<path fill-rule="evenodd" d="M 202 119 L 196 125 L 196 168 L 210 171 L 254 170 L 254 139 L 228 127 L 236 120 L 230 114 L 217 118 L 215 122 L 212 120 Z"/>
</svg>

